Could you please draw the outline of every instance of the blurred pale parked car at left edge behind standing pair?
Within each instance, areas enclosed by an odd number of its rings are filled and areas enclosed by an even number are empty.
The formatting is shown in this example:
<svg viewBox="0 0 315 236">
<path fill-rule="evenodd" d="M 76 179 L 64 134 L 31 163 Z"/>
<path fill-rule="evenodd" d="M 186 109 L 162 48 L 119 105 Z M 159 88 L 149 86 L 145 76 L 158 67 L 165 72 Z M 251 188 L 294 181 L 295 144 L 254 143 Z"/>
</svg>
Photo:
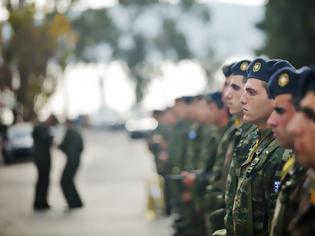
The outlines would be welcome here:
<svg viewBox="0 0 315 236">
<path fill-rule="evenodd" d="M 17 123 L 8 128 L 2 147 L 2 156 L 6 164 L 12 163 L 16 158 L 32 154 L 32 131 L 33 125 L 30 122 Z"/>
</svg>

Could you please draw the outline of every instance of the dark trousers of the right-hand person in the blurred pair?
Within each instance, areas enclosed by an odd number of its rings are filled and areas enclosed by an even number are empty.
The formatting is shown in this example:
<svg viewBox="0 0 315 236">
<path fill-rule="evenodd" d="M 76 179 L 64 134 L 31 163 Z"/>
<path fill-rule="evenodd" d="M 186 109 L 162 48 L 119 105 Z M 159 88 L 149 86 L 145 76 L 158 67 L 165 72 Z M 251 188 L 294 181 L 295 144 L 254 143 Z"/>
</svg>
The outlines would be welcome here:
<svg viewBox="0 0 315 236">
<path fill-rule="evenodd" d="M 61 177 L 61 188 L 70 208 L 81 207 L 83 205 L 74 185 L 74 176 L 79 164 L 80 158 L 68 158 Z"/>
</svg>

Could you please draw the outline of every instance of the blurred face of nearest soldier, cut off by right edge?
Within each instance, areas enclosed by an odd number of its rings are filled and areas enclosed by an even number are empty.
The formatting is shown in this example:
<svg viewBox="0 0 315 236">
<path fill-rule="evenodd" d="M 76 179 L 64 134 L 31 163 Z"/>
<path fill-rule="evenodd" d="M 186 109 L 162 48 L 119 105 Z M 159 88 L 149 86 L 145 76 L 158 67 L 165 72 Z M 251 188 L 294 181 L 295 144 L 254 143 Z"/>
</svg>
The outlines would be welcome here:
<svg viewBox="0 0 315 236">
<path fill-rule="evenodd" d="M 287 129 L 293 136 L 294 150 L 301 165 L 315 168 L 315 93 L 309 92 Z"/>
</svg>

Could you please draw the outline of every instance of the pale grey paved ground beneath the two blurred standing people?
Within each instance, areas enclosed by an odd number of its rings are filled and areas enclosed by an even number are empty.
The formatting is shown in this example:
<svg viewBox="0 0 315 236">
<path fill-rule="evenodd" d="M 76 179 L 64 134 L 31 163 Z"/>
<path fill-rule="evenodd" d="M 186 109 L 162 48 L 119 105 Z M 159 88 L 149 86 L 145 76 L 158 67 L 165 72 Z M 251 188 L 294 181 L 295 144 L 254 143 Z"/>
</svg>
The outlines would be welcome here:
<svg viewBox="0 0 315 236">
<path fill-rule="evenodd" d="M 50 204 L 32 211 L 35 168 L 31 162 L 0 164 L 0 236 L 168 236 L 170 220 L 145 218 L 146 179 L 153 163 L 143 141 L 124 132 L 86 131 L 86 151 L 77 183 L 85 208 L 69 212 L 59 176 L 63 155 L 55 150 Z"/>
</svg>

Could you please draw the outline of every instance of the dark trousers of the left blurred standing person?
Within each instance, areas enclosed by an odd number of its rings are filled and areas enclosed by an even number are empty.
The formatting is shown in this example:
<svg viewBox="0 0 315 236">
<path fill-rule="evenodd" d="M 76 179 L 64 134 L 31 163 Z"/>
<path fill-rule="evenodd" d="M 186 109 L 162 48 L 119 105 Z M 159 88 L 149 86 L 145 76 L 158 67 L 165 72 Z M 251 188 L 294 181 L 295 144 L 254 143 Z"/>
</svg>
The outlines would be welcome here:
<svg viewBox="0 0 315 236">
<path fill-rule="evenodd" d="M 50 174 L 50 157 L 46 160 L 35 160 L 37 182 L 35 186 L 34 208 L 48 207 L 48 186 Z"/>
</svg>

